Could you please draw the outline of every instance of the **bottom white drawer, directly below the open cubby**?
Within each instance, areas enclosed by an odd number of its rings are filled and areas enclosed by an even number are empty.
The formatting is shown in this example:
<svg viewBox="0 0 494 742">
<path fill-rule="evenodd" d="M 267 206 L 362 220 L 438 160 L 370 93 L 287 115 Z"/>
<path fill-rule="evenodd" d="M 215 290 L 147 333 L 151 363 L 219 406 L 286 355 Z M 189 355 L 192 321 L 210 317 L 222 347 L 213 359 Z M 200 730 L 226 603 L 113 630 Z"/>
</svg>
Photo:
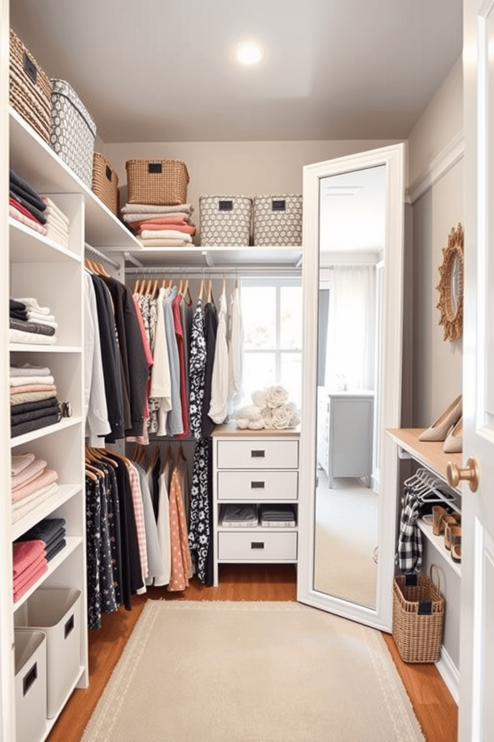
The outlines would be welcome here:
<svg viewBox="0 0 494 742">
<path fill-rule="evenodd" d="M 247 533 L 218 533 L 218 559 L 235 562 L 293 562 L 297 558 L 297 536 L 293 529 L 282 533 L 262 529 Z M 287 533 L 285 533 L 287 531 Z"/>
</svg>

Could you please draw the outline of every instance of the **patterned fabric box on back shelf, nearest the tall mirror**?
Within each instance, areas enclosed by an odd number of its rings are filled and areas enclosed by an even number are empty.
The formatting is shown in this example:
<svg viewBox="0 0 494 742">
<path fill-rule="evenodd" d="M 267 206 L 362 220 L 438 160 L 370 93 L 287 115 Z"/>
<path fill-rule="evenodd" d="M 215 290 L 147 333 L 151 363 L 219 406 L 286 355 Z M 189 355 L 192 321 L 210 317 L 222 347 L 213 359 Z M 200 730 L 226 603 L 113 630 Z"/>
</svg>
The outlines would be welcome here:
<svg viewBox="0 0 494 742">
<path fill-rule="evenodd" d="M 301 245 L 301 195 L 255 196 L 254 245 Z"/>
</svg>

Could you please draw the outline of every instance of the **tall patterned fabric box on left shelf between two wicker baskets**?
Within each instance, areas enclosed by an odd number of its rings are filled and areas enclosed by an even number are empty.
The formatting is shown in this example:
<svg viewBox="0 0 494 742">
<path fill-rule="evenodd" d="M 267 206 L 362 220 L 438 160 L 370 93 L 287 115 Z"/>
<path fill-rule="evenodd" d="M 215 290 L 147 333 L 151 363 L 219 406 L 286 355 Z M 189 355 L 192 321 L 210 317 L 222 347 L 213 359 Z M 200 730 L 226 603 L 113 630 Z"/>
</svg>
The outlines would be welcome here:
<svg viewBox="0 0 494 742">
<path fill-rule="evenodd" d="M 96 123 L 68 82 L 52 78 L 51 85 L 50 145 L 90 188 Z"/>
</svg>

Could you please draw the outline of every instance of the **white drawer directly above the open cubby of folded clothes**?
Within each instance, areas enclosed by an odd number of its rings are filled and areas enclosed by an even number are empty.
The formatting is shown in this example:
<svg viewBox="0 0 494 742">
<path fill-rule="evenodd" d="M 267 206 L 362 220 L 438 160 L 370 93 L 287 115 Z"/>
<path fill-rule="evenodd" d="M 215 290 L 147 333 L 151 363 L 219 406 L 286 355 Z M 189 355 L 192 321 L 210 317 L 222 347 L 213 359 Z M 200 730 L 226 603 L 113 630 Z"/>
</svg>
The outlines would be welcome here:
<svg viewBox="0 0 494 742">
<path fill-rule="evenodd" d="M 298 471 L 218 471 L 218 500 L 296 500 Z"/>
</svg>

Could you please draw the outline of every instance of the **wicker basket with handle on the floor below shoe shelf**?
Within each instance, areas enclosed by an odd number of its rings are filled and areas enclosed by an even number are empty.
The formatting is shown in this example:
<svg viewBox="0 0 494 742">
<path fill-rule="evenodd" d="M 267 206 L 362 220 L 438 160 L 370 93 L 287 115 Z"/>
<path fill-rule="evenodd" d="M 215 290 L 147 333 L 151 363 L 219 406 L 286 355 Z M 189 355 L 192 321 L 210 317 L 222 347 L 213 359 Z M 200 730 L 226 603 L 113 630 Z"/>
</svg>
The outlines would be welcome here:
<svg viewBox="0 0 494 742">
<path fill-rule="evenodd" d="M 437 587 L 433 582 L 435 569 Z M 439 571 L 430 577 L 401 574 L 393 584 L 393 639 L 404 662 L 437 662 L 441 656 L 444 598 Z"/>
</svg>

